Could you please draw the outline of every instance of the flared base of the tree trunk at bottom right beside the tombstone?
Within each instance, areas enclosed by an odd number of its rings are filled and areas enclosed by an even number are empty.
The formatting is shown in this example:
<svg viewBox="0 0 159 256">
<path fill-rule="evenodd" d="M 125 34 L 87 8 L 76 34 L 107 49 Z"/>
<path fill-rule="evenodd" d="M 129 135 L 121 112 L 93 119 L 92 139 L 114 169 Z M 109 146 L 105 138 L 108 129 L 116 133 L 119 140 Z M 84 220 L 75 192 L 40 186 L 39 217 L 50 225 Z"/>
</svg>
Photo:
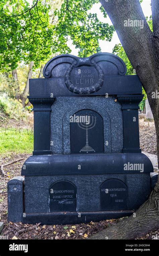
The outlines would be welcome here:
<svg viewBox="0 0 159 256">
<path fill-rule="evenodd" d="M 141 195 L 142 196 L 142 195 Z M 159 229 L 159 188 L 151 192 L 149 199 L 129 218 L 102 230 L 89 239 L 135 239 Z"/>
</svg>

